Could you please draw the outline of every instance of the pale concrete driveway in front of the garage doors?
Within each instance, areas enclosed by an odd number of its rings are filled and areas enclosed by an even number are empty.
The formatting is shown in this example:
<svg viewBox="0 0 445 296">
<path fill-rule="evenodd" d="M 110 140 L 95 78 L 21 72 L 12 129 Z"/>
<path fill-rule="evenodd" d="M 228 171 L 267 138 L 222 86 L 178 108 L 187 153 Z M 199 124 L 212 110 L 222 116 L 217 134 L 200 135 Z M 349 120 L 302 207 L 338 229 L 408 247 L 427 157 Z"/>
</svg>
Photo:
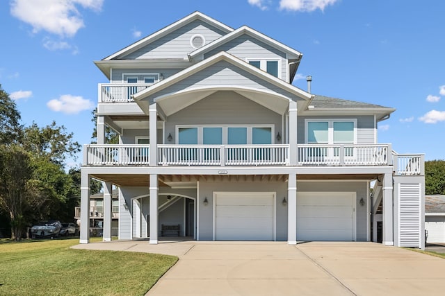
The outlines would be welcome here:
<svg viewBox="0 0 445 296">
<path fill-rule="evenodd" d="M 377 243 L 131 241 L 76 247 L 106 245 L 179 256 L 147 295 L 423 296 L 445 290 L 445 259 Z"/>
</svg>

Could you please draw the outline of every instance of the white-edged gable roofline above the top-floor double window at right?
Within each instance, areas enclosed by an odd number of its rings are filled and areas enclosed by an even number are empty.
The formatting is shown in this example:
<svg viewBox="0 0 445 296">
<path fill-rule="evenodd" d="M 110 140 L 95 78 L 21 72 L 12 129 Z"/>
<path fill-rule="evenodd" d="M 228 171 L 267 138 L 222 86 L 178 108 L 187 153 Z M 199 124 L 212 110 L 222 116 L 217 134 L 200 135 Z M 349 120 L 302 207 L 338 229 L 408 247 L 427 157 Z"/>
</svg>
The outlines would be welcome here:
<svg viewBox="0 0 445 296">
<path fill-rule="evenodd" d="M 285 53 L 288 53 L 290 55 L 295 55 L 295 58 L 301 59 L 302 53 L 299 51 L 296 51 L 295 49 L 292 49 L 291 47 L 282 44 L 281 42 L 277 42 L 277 40 L 274 40 L 263 33 L 259 33 L 258 31 L 248 27 L 248 26 L 242 26 L 241 28 L 237 28 L 235 31 L 232 31 L 231 33 L 228 33 L 227 35 L 224 35 L 223 37 L 218 38 L 218 40 L 215 40 L 213 42 L 210 42 L 209 44 L 206 44 L 202 46 L 200 49 L 197 49 L 191 53 L 188 54 L 188 57 L 190 59 L 195 58 L 197 55 L 201 55 L 203 53 L 207 53 L 211 51 L 212 49 L 216 49 L 218 46 L 221 46 L 231 40 L 234 40 L 236 37 L 239 37 L 241 35 L 250 35 L 254 37 L 257 40 L 261 40 L 262 42 L 273 46 L 276 49 L 280 49 L 281 51 L 284 51 Z"/>
</svg>

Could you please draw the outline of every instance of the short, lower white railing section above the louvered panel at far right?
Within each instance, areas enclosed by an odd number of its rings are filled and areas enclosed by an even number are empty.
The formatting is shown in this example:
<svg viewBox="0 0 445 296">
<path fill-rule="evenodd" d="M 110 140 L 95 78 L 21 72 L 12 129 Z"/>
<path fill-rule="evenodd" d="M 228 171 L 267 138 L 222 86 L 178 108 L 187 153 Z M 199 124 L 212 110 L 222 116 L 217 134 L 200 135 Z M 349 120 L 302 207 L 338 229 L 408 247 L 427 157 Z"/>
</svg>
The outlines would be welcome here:
<svg viewBox="0 0 445 296">
<path fill-rule="evenodd" d="M 393 154 L 395 175 L 425 175 L 425 155 Z"/>
</svg>

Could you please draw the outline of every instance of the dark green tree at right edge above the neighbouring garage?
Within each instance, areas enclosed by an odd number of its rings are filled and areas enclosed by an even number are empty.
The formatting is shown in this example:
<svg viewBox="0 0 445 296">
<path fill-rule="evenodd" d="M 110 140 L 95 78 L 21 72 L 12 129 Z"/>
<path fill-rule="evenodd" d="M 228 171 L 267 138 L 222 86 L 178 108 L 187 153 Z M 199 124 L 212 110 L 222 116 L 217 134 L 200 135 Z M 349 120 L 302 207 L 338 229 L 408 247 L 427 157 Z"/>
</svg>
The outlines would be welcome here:
<svg viewBox="0 0 445 296">
<path fill-rule="evenodd" d="M 425 162 L 425 193 L 445 194 L 445 160 Z"/>
</svg>

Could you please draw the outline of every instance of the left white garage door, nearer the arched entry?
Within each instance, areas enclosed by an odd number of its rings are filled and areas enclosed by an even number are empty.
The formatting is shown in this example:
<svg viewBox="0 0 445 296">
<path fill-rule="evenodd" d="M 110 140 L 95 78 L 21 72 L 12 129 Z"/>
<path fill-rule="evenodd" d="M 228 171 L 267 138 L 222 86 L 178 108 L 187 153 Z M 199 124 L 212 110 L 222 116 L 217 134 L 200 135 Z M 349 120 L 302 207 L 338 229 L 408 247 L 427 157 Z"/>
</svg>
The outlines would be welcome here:
<svg viewBox="0 0 445 296">
<path fill-rule="evenodd" d="M 275 193 L 216 193 L 217 241 L 273 241 Z"/>
</svg>

